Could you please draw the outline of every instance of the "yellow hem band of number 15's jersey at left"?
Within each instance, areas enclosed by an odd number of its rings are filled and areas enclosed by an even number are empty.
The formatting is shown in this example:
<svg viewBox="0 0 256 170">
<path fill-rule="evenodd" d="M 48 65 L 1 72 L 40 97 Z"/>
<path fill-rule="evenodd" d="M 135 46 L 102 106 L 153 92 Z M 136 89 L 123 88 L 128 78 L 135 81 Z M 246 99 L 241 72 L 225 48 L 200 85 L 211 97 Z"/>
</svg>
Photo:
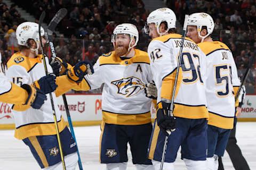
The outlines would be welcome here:
<svg viewBox="0 0 256 170">
<path fill-rule="evenodd" d="M 59 132 L 61 132 L 66 126 L 66 122 L 61 117 L 58 122 Z M 20 128 L 15 128 L 14 137 L 22 140 L 32 136 L 38 135 L 53 135 L 56 134 L 56 128 L 54 122 L 52 123 L 36 123 L 21 126 Z"/>
</svg>

